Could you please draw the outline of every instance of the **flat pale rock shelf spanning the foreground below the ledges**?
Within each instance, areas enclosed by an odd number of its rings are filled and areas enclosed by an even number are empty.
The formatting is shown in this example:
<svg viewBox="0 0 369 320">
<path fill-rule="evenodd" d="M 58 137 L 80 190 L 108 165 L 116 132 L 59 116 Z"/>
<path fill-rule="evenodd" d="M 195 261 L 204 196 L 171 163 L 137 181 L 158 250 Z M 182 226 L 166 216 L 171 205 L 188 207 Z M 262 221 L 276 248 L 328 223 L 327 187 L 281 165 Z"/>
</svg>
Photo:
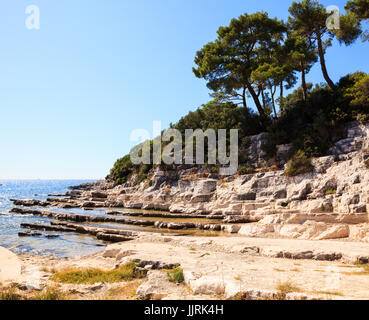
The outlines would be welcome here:
<svg viewBox="0 0 369 320">
<path fill-rule="evenodd" d="M 22 271 L 8 284 L 28 295 L 57 288 L 68 300 L 369 299 L 368 273 L 357 264 L 368 262 L 364 243 L 145 233 L 85 257 L 20 255 L 18 259 Z M 146 277 L 92 284 L 66 284 L 52 278 L 70 269 L 117 270 L 129 261 Z M 167 276 L 176 266 L 183 269 L 184 282 L 179 284 Z M 287 285 L 292 289 L 284 292 L 281 288 Z M 127 288 L 132 290 L 129 295 Z"/>
</svg>

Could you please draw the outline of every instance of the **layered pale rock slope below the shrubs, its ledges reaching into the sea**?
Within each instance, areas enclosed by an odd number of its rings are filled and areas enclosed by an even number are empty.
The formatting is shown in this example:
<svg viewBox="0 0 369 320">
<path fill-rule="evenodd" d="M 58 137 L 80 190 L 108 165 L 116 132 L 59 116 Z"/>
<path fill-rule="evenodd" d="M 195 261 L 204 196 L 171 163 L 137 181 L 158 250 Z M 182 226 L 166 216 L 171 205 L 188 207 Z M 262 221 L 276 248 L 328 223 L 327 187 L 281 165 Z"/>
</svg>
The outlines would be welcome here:
<svg viewBox="0 0 369 320">
<path fill-rule="evenodd" d="M 260 167 L 265 134 L 250 137 L 246 151 L 259 172 L 214 177 L 204 168 L 152 172 L 147 182 L 130 182 L 114 186 L 109 181 L 98 181 L 74 186 L 66 195 L 50 197 L 46 201 L 14 200 L 21 207 L 108 208 L 108 216 L 122 214 L 115 209 L 157 210 L 160 212 L 124 212 L 129 218 L 88 218 L 73 214 L 52 214 L 50 218 L 76 222 L 111 221 L 151 226 L 158 229 L 201 229 L 238 233 L 242 236 L 269 236 L 293 239 L 348 239 L 369 241 L 369 126 L 350 123 L 347 138 L 337 141 L 326 157 L 313 160 L 311 173 L 287 177 L 284 170 Z M 288 146 L 279 146 L 276 167 L 283 167 L 283 154 Z M 163 212 L 164 211 L 164 212 Z M 13 209 L 27 214 L 27 210 Z M 147 217 L 158 218 L 147 221 Z M 221 224 L 160 221 L 161 218 L 221 220 Z M 84 222 L 82 221 L 81 222 Z M 118 221 L 119 220 L 119 221 Z M 123 221 L 124 220 L 124 221 Z"/>
</svg>

